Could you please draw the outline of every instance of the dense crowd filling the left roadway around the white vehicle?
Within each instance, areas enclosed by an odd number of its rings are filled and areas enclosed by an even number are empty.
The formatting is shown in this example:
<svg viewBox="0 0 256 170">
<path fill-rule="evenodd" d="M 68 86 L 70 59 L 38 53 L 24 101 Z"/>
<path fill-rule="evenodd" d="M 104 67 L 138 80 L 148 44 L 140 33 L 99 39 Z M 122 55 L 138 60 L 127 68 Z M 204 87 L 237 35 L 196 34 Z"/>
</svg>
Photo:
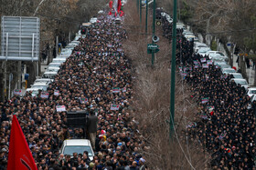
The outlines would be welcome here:
<svg viewBox="0 0 256 170">
<path fill-rule="evenodd" d="M 42 98 L 41 93 L 15 95 L 0 103 L 0 169 L 7 164 L 13 114 L 39 170 L 146 169 L 145 158 L 140 154 L 145 143 L 131 117 L 131 62 L 122 45 L 126 38 L 122 25 L 115 25 L 112 16 L 102 15 L 61 65 L 55 81 L 48 86 L 48 98 Z M 57 112 L 60 105 L 66 111 Z M 67 111 L 97 115 L 96 138 L 91 140 L 95 154 L 92 160 L 86 151 L 59 153 L 65 139 L 89 138 L 83 129 L 67 126 Z"/>
</svg>

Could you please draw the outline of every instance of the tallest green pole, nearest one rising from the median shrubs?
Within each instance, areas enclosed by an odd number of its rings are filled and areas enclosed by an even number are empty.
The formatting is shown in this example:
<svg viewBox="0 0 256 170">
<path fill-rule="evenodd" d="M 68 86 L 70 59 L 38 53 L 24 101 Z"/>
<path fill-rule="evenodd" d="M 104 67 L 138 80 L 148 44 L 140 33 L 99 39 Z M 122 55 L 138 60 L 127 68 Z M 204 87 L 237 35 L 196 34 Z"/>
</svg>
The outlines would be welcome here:
<svg viewBox="0 0 256 170">
<path fill-rule="evenodd" d="M 175 128 L 175 95 L 176 95 L 176 0 L 174 0 L 173 38 L 172 38 L 172 70 L 171 70 L 171 102 L 170 102 L 170 138 Z"/>
</svg>

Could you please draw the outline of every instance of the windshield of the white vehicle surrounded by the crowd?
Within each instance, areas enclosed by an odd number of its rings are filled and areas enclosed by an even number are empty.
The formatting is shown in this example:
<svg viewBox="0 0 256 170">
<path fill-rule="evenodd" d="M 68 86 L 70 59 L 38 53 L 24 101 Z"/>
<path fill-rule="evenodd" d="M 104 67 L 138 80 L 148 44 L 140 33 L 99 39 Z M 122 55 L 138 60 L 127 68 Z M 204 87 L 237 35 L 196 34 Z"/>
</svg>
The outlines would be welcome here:
<svg viewBox="0 0 256 170">
<path fill-rule="evenodd" d="M 89 156 L 93 156 L 89 145 L 66 145 L 63 154 L 73 155 L 73 153 L 78 153 L 79 155 L 83 154 L 84 151 L 87 151 Z"/>
</svg>

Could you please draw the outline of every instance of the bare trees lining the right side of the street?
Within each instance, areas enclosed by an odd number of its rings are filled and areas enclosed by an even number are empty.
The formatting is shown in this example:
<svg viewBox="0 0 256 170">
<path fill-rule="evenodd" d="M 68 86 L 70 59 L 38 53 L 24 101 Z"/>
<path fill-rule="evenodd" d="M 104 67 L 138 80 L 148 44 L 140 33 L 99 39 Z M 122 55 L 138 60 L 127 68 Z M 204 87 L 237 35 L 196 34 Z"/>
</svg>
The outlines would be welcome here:
<svg viewBox="0 0 256 170">
<path fill-rule="evenodd" d="M 224 45 L 229 55 L 229 64 L 233 65 L 232 51 L 239 47 L 240 54 L 249 54 L 256 61 L 256 1 L 255 0 L 177 0 L 178 18 L 191 25 L 196 34 L 204 41 L 214 42 L 215 38 Z M 172 1 L 162 0 L 158 6 L 172 13 Z M 231 49 L 227 43 L 231 42 Z M 215 42 L 214 42 L 215 43 Z M 231 53 L 230 53 L 231 52 Z M 240 60 L 240 69 L 246 75 L 244 58 Z M 255 78 L 256 80 L 256 78 Z M 256 82 L 254 82 L 256 85 Z"/>
</svg>

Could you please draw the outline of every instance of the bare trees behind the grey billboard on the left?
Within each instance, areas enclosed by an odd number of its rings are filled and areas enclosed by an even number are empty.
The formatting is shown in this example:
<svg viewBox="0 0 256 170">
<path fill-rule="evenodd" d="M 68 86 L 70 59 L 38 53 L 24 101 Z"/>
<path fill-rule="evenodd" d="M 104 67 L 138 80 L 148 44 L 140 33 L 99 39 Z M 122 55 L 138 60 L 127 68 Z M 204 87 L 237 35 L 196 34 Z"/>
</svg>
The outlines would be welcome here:
<svg viewBox="0 0 256 170">
<path fill-rule="evenodd" d="M 53 58 L 56 36 L 59 42 L 69 43 L 70 37 L 79 30 L 81 23 L 88 21 L 91 16 L 105 5 L 105 1 L 84 1 L 84 0 L 2 0 L 0 16 L 37 16 L 40 17 L 40 57 L 48 56 L 48 62 Z M 1 35 L 0 35 L 1 36 Z M 0 37 L 1 39 L 1 37 Z M 16 87 L 17 62 L 0 61 L 0 101 L 3 101 L 8 89 L 5 88 L 8 82 L 8 75 L 12 73 L 14 80 L 11 89 Z M 40 61 L 37 63 L 23 62 L 27 65 L 29 74 L 28 85 L 40 74 Z M 36 66 L 38 65 L 38 66 Z M 36 72 L 36 69 L 37 72 Z"/>
</svg>

